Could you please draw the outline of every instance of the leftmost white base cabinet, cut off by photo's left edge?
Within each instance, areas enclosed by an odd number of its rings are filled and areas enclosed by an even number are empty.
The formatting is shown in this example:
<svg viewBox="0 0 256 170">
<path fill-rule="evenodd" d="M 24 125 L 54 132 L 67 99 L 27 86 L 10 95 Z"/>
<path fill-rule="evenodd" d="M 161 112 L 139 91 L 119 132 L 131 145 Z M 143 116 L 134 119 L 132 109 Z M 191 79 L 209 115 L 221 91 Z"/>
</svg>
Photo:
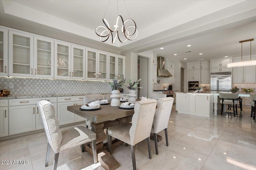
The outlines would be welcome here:
<svg viewBox="0 0 256 170">
<path fill-rule="evenodd" d="M 0 100 L 0 137 L 8 136 L 8 100 Z"/>
</svg>

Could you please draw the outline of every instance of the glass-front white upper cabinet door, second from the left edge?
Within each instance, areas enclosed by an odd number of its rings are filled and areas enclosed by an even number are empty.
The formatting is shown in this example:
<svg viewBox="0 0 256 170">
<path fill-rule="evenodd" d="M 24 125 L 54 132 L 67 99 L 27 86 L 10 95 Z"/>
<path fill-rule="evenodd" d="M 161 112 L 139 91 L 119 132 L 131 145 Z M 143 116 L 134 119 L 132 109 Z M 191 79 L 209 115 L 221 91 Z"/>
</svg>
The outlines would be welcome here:
<svg viewBox="0 0 256 170">
<path fill-rule="evenodd" d="M 33 35 L 9 31 L 9 75 L 33 77 Z"/>
</svg>

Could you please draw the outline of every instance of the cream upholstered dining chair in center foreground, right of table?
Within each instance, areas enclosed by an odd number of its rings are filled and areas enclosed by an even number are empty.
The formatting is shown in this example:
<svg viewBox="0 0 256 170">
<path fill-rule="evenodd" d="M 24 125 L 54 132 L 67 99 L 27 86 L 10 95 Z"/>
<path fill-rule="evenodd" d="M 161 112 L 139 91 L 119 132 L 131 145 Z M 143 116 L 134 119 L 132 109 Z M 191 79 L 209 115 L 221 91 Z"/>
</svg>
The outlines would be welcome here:
<svg viewBox="0 0 256 170">
<path fill-rule="evenodd" d="M 108 128 L 108 151 L 111 153 L 112 137 L 119 139 L 131 146 L 132 166 L 136 170 L 135 150 L 137 143 L 147 139 L 148 156 L 151 159 L 150 132 L 156 110 L 156 100 L 148 99 L 135 103 L 132 123 L 122 123 Z"/>
</svg>

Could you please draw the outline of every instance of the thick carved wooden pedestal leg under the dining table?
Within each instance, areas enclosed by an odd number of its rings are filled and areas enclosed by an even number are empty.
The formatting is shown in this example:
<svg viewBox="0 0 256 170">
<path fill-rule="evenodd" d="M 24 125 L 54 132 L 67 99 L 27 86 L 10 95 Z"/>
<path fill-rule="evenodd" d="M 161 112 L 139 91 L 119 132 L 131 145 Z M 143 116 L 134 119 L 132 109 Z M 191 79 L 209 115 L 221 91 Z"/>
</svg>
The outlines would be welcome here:
<svg viewBox="0 0 256 170">
<path fill-rule="evenodd" d="M 107 135 L 103 131 L 104 123 L 91 123 L 92 131 L 96 133 L 96 150 L 97 150 L 97 156 L 98 161 L 102 165 L 103 168 L 106 170 L 115 170 L 119 167 L 119 163 L 110 155 L 110 153 L 103 149 L 103 143 L 107 137 Z M 86 151 L 92 154 L 92 143 L 90 143 L 90 146 L 85 147 Z"/>
</svg>

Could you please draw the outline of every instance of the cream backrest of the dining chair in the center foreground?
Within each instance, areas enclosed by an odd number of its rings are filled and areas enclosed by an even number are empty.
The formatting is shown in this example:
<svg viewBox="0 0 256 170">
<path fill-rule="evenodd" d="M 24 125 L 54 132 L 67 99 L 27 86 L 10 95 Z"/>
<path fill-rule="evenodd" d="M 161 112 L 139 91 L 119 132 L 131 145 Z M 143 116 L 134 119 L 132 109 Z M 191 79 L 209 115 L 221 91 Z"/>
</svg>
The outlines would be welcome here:
<svg viewBox="0 0 256 170">
<path fill-rule="evenodd" d="M 140 141 L 150 137 L 156 111 L 156 102 L 155 99 L 148 99 L 135 103 L 132 126 L 129 131 L 131 145 L 134 146 Z"/>
</svg>

